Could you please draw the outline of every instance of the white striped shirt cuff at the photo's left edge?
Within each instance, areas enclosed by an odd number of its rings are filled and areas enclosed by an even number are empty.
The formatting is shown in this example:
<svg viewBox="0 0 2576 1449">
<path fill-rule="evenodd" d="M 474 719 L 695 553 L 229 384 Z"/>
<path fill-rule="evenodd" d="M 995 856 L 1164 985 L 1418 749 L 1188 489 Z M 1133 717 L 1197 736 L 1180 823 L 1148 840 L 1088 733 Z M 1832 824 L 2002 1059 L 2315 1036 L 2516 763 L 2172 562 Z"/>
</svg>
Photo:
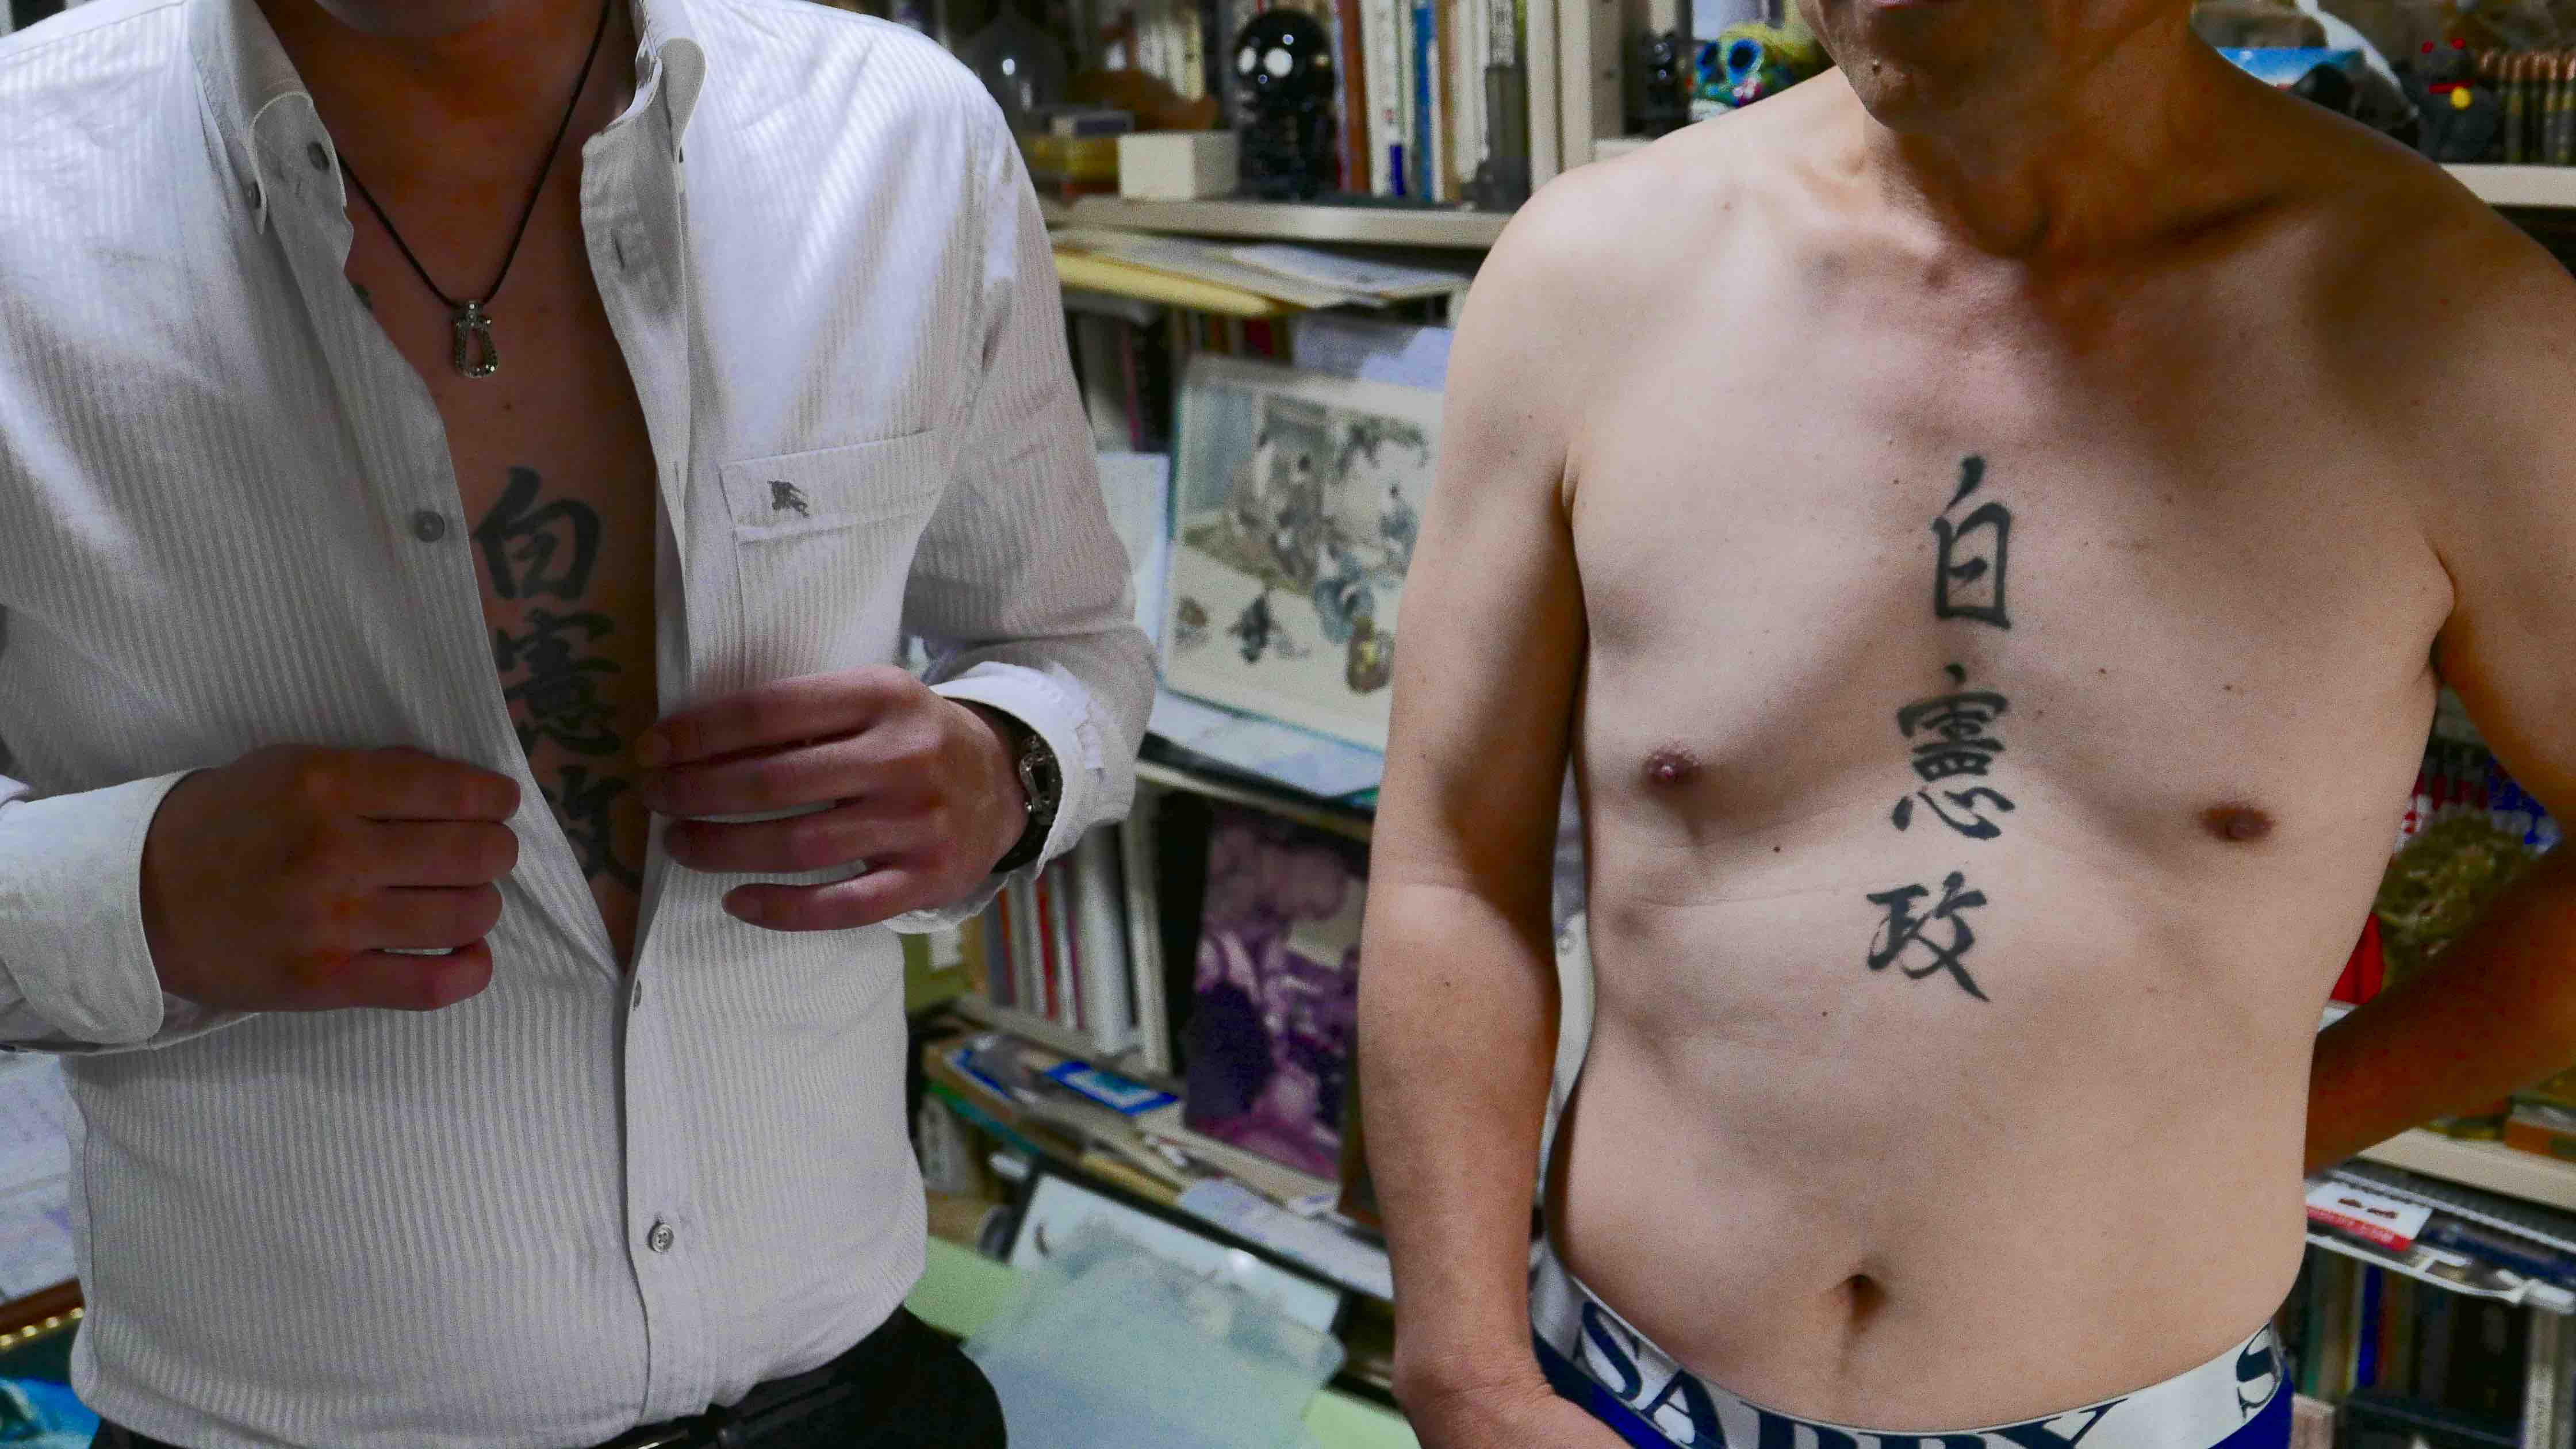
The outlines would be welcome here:
<svg viewBox="0 0 2576 1449">
<path fill-rule="evenodd" d="M 28 1047 L 157 1044 L 167 1018 L 206 1016 L 165 998 L 142 910 L 144 835 L 188 773 L 28 799 L 0 815 L 0 972 L 23 1013 L 52 1029 Z"/>
</svg>

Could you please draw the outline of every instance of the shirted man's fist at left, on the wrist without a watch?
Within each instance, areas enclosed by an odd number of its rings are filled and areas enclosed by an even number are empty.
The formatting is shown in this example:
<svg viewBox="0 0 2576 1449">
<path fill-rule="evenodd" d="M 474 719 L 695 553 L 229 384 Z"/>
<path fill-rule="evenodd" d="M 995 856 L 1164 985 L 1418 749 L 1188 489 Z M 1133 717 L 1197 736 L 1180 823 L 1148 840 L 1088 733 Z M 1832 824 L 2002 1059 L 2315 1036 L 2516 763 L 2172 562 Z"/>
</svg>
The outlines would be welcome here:
<svg viewBox="0 0 2576 1449">
<path fill-rule="evenodd" d="M 144 838 L 162 990 L 224 1011 L 438 1011 L 479 993 L 515 812 L 510 776 L 412 748 L 270 745 L 191 773 Z"/>
</svg>

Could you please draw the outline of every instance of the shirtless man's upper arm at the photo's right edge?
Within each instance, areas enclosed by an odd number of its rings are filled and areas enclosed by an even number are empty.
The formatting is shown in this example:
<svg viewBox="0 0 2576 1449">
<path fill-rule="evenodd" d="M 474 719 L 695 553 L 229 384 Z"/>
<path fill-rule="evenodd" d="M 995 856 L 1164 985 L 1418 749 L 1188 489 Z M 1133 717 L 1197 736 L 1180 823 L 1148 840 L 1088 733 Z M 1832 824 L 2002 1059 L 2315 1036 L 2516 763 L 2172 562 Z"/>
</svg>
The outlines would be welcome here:
<svg viewBox="0 0 2576 1449">
<path fill-rule="evenodd" d="M 2496 758 L 2576 820 L 2576 281 L 2519 237 L 2465 309 L 2447 371 L 2465 456 L 2427 495 L 2452 608 L 2434 668 Z"/>
</svg>

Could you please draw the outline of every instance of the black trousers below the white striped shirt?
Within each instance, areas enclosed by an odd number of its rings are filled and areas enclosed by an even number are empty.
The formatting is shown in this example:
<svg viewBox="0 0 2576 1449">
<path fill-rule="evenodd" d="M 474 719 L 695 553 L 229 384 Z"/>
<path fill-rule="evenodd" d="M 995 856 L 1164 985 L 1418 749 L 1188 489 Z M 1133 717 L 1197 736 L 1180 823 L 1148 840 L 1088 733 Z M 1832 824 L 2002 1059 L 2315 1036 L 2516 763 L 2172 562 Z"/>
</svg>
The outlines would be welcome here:
<svg viewBox="0 0 2576 1449">
<path fill-rule="evenodd" d="M 734 1408 L 654 1423 L 603 1449 L 1005 1449 L 1002 1400 L 956 1341 L 894 1310 L 822 1369 L 757 1385 Z M 183 1449 L 113 1423 L 93 1449 Z"/>
</svg>

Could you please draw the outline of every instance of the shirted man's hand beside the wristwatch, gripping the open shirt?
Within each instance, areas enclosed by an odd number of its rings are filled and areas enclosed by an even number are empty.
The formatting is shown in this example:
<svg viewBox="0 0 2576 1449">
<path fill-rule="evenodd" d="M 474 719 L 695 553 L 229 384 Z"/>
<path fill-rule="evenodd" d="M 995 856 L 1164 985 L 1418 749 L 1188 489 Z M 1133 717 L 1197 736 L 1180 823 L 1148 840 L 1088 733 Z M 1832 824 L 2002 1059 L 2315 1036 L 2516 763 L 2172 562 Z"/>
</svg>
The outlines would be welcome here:
<svg viewBox="0 0 2576 1449">
<path fill-rule="evenodd" d="M 652 750 L 662 743 L 662 753 Z M 683 709 L 636 740 L 639 794 L 670 815 L 662 846 L 696 871 L 819 871 L 747 884 L 724 910 L 773 931 L 842 931 L 963 900 L 1028 822 L 999 717 L 891 665 L 804 676 Z M 786 820 L 703 815 L 806 810 Z"/>
</svg>

